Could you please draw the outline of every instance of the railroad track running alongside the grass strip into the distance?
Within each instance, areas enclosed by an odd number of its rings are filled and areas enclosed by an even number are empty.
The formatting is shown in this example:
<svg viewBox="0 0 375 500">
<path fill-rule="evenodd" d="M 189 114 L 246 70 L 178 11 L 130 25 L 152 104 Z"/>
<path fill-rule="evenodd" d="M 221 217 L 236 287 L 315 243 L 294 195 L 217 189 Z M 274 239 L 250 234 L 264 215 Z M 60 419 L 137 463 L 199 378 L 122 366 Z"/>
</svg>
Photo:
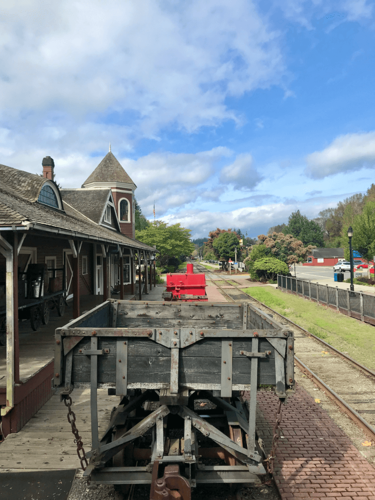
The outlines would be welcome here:
<svg viewBox="0 0 375 500">
<path fill-rule="evenodd" d="M 324 340 L 290 321 L 240 289 L 233 276 L 217 275 L 199 264 L 196 269 L 220 289 L 230 301 L 245 300 L 294 332 L 294 361 L 327 396 L 375 441 L 375 372 Z M 223 283 L 232 288 L 223 288 Z"/>
</svg>

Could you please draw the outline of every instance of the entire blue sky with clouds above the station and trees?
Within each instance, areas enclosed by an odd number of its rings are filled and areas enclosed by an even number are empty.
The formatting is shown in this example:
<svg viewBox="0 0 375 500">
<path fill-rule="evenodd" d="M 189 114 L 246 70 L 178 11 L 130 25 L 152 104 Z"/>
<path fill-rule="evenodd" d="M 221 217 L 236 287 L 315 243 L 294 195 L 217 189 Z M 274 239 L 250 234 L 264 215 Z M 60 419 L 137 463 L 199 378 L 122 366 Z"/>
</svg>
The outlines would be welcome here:
<svg viewBox="0 0 375 500">
<path fill-rule="evenodd" d="M 374 181 L 369 0 L 4 0 L 0 162 L 79 187 L 108 151 L 193 237 Z"/>
</svg>

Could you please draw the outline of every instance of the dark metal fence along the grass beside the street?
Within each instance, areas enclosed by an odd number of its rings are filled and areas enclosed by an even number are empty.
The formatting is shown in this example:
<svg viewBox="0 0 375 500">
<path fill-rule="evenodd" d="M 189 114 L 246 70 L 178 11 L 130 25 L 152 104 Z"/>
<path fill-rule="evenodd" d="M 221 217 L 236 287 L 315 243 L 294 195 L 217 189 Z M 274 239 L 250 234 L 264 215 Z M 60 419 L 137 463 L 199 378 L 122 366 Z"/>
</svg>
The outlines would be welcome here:
<svg viewBox="0 0 375 500">
<path fill-rule="evenodd" d="M 375 324 L 375 295 L 361 291 L 343 290 L 337 286 L 312 283 L 291 276 L 277 274 L 279 290 L 307 297 L 362 321 Z"/>
</svg>

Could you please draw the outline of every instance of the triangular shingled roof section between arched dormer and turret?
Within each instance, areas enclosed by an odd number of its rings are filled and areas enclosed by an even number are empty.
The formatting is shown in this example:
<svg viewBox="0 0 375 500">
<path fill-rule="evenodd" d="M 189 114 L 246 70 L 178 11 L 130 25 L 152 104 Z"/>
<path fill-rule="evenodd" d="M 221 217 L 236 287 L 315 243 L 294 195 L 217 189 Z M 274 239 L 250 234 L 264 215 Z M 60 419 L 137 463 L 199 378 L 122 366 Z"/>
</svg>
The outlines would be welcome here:
<svg viewBox="0 0 375 500">
<path fill-rule="evenodd" d="M 62 200 L 99 224 L 110 189 L 60 189 Z"/>
</svg>

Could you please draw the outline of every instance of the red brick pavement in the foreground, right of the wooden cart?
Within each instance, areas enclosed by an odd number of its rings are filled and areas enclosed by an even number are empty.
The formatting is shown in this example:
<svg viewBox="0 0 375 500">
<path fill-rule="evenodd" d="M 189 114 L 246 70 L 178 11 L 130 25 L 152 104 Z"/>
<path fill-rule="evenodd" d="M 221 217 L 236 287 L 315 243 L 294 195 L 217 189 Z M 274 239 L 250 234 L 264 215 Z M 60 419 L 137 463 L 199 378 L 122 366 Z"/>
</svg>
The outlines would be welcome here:
<svg viewBox="0 0 375 500">
<path fill-rule="evenodd" d="M 273 392 L 258 392 L 257 428 L 266 451 L 277 401 Z M 300 385 L 282 406 L 281 435 L 274 480 L 282 500 L 375 500 L 375 469 Z"/>
</svg>

